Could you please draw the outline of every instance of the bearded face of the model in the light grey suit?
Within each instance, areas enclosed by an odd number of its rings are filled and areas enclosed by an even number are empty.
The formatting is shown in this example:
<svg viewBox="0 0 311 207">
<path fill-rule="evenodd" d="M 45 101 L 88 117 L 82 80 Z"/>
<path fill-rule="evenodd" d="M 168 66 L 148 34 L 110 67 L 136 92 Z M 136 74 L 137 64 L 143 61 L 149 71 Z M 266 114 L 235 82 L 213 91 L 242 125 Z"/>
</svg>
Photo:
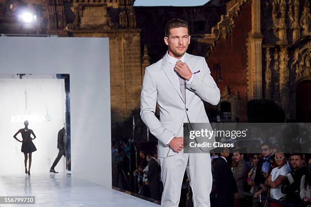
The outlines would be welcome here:
<svg viewBox="0 0 311 207">
<path fill-rule="evenodd" d="M 164 42 L 169 48 L 169 55 L 175 58 L 182 57 L 190 44 L 188 29 L 185 27 L 170 29 L 170 34 L 164 38 Z"/>
</svg>

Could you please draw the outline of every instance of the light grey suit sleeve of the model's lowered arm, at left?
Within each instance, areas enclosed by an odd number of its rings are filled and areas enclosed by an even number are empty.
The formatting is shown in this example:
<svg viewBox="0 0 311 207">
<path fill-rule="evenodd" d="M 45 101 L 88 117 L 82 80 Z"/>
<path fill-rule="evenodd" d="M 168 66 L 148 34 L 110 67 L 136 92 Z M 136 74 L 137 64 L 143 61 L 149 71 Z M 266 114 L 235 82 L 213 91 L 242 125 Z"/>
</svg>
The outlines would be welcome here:
<svg viewBox="0 0 311 207">
<path fill-rule="evenodd" d="M 150 70 L 151 68 L 146 67 L 140 96 L 140 117 L 150 132 L 167 146 L 166 144 L 175 134 L 165 128 L 154 115 L 155 104 L 157 103 L 157 87 L 154 84 Z"/>
</svg>

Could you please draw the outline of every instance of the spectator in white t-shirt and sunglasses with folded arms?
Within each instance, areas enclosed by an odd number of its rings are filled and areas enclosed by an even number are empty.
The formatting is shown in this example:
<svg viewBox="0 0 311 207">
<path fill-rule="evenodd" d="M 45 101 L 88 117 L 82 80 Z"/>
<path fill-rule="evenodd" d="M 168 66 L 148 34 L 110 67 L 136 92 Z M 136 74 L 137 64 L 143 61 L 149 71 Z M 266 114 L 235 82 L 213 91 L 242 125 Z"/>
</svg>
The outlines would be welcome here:
<svg viewBox="0 0 311 207">
<path fill-rule="evenodd" d="M 275 153 L 275 162 L 277 167 L 272 169 L 271 175 L 265 182 L 266 186 L 270 187 L 270 196 L 276 200 L 283 200 L 285 194 L 281 192 L 281 187 L 286 180 L 286 175 L 291 172 L 291 169 L 286 164 L 286 157 L 284 153 Z M 281 207 L 282 204 L 271 202 L 270 207 Z"/>
</svg>

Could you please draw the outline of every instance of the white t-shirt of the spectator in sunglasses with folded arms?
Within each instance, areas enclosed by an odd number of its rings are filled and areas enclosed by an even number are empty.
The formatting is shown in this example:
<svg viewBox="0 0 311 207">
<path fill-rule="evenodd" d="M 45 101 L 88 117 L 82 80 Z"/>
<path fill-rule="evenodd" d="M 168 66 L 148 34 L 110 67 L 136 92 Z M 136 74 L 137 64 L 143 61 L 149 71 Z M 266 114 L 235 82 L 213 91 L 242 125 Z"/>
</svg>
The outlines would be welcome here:
<svg viewBox="0 0 311 207">
<path fill-rule="evenodd" d="M 275 181 L 279 175 L 286 176 L 290 172 L 291 172 L 291 168 L 287 164 L 283 165 L 283 167 L 281 168 L 275 167 L 271 171 L 271 181 Z M 281 187 L 282 187 L 282 184 L 279 185 L 277 188 L 270 189 L 270 195 L 272 198 L 278 200 L 282 198 L 283 196 L 285 196 L 285 194 L 281 192 Z"/>
</svg>

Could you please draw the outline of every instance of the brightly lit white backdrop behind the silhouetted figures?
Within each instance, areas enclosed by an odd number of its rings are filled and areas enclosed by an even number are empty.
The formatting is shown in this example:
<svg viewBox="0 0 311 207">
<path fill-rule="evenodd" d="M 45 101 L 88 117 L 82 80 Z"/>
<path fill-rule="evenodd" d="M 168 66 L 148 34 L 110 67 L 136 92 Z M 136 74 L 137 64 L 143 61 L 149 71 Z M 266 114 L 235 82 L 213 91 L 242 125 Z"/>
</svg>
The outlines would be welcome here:
<svg viewBox="0 0 311 207">
<path fill-rule="evenodd" d="M 58 154 L 57 133 L 65 122 L 64 79 L 0 78 L 0 97 L 0 109 L 5 109 L 0 117 L 0 166 L 3 166 L 0 174 L 24 174 L 21 143 L 13 138 L 13 134 L 24 128 L 20 117 L 27 115 L 30 115 L 27 117 L 28 128 L 37 136 L 33 141 L 37 151 L 33 153 L 30 171 L 47 172 Z M 45 117 L 32 120 L 34 116 Z M 20 133 L 17 138 L 22 140 Z M 64 156 L 55 169 L 65 171 Z"/>
</svg>

